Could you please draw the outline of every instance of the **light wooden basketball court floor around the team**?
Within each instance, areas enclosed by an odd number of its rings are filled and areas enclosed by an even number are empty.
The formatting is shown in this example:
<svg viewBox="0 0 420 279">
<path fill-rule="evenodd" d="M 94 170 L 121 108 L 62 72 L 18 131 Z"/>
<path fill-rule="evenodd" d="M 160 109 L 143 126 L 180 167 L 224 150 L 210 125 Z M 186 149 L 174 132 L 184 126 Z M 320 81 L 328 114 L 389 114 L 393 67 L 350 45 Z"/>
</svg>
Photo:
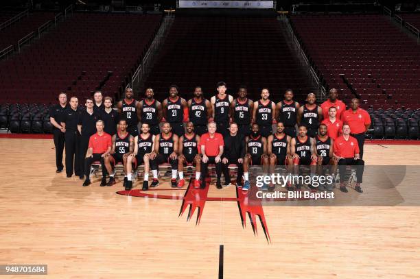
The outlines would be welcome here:
<svg viewBox="0 0 420 279">
<path fill-rule="evenodd" d="M 259 221 L 257 234 L 248 216 L 242 227 L 233 186 L 210 186 L 196 225 L 198 210 L 178 217 L 181 199 L 117 195 L 121 182 L 82 187 L 56 174 L 52 140 L 2 138 L 0 147 L 0 264 L 48 265 L 36 278 L 420 277 L 417 206 L 264 206 L 268 241 Z M 366 165 L 419 165 L 420 145 L 365 149 Z M 404 181 L 418 195 L 418 176 Z"/>
</svg>

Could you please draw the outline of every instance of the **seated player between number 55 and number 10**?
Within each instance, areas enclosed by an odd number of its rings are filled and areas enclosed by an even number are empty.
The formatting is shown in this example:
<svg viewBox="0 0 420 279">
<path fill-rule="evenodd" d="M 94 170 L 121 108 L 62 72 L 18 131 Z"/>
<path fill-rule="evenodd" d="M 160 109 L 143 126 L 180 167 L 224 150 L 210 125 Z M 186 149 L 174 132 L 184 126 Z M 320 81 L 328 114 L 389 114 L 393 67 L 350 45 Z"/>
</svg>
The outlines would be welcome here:
<svg viewBox="0 0 420 279">
<path fill-rule="evenodd" d="M 149 156 L 154 149 L 155 135 L 150 133 L 148 123 L 141 124 L 141 134 L 135 136 L 134 152 L 127 158 L 127 184 L 126 191 L 132 189 L 132 164 L 135 167 L 144 163 L 144 178 L 142 190 L 149 189 Z"/>
</svg>

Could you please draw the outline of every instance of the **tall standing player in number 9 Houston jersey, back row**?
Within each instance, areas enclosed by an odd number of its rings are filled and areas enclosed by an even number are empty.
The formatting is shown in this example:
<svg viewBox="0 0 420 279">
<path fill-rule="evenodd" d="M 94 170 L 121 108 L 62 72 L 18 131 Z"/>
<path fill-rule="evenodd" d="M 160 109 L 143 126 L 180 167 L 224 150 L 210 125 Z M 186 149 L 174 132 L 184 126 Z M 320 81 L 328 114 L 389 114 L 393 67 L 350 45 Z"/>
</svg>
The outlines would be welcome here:
<svg viewBox="0 0 420 279">
<path fill-rule="evenodd" d="M 229 133 L 230 107 L 233 97 L 226 94 L 226 83 L 218 82 L 218 94 L 211 97 L 210 102 L 213 108 L 213 120 L 218 123 L 218 133 L 226 136 Z"/>
</svg>

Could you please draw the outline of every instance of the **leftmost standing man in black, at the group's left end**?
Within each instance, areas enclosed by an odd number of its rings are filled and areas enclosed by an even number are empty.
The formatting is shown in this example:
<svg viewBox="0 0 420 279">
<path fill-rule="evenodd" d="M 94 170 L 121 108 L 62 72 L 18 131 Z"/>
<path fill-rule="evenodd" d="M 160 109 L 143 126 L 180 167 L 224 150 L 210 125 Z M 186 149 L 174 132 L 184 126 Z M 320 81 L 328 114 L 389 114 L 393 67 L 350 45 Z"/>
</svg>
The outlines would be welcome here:
<svg viewBox="0 0 420 279">
<path fill-rule="evenodd" d="M 65 145 L 66 129 L 60 125 L 64 117 L 64 113 L 69 109 L 67 105 L 67 94 L 60 93 L 58 95 L 58 104 L 49 108 L 49 122 L 53 125 L 54 146 L 56 147 L 56 167 L 57 173 L 62 172 L 64 166 L 62 165 L 62 151 Z"/>
</svg>

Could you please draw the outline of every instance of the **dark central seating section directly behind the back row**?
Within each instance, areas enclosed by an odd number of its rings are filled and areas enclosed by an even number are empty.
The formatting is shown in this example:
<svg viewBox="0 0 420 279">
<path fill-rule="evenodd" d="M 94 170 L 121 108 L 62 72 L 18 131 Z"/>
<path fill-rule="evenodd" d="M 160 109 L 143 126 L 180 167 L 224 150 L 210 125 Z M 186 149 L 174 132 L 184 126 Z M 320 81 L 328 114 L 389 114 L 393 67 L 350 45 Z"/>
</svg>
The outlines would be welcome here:
<svg viewBox="0 0 420 279">
<path fill-rule="evenodd" d="M 276 100 L 292 88 L 299 101 L 312 89 L 276 19 L 177 16 L 145 86 L 163 99 L 170 84 L 185 98 L 199 85 L 210 98 L 219 81 L 234 96 L 245 84 L 253 99 L 262 87 Z"/>
</svg>

